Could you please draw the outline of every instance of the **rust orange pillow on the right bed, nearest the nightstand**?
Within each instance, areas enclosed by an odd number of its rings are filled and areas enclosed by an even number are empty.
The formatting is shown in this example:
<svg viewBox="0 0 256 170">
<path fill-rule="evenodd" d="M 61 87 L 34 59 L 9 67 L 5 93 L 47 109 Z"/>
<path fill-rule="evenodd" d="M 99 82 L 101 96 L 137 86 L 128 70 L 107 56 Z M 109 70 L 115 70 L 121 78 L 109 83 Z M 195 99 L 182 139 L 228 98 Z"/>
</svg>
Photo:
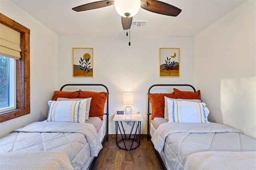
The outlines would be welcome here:
<svg viewBox="0 0 256 170">
<path fill-rule="evenodd" d="M 174 92 L 159 93 L 159 94 L 148 93 L 148 98 L 151 103 L 151 111 L 152 111 L 151 119 L 156 117 L 164 118 L 164 96 L 168 98 L 176 98 Z"/>
</svg>

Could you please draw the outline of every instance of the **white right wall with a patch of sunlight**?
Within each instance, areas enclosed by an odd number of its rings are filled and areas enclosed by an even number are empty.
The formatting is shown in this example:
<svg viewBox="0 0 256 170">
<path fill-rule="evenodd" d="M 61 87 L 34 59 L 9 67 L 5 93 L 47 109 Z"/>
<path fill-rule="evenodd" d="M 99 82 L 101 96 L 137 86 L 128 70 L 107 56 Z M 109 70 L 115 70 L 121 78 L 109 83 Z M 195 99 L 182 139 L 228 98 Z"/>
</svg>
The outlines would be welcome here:
<svg viewBox="0 0 256 170">
<path fill-rule="evenodd" d="M 195 36 L 194 82 L 209 119 L 256 138 L 256 1 Z"/>
</svg>

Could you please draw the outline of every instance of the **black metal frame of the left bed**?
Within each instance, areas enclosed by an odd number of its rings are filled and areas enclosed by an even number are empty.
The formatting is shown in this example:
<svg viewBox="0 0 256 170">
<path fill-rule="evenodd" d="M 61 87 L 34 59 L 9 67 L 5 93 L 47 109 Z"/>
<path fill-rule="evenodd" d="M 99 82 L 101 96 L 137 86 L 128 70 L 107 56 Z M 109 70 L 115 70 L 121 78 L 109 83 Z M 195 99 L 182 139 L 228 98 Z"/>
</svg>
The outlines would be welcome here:
<svg viewBox="0 0 256 170">
<path fill-rule="evenodd" d="M 109 91 L 108 91 L 108 88 L 104 85 L 104 84 L 65 84 L 63 85 L 61 88 L 60 88 L 60 91 L 62 91 L 62 89 L 66 86 L 103 86 L 105 89 L 106 89 L 106 92 L 108 93 L 109 95 Z M 106 100 L 106 113 L 104 113 L 104 115 L 106 115 L 106 134 L 101 142 L 101 144 L 103 145 L 105 140 L 108 141 L 108 122 L 109 122 L 109 118 L 108 118 L 108 96 L 107 96 L 107 100 Z M 92 163 L 90 164 L 89 166 L 89 170 L 91 170 L 96 162 L 98 157 L 94 157 L 93 160 L 92 160 Z"/>
</svg>

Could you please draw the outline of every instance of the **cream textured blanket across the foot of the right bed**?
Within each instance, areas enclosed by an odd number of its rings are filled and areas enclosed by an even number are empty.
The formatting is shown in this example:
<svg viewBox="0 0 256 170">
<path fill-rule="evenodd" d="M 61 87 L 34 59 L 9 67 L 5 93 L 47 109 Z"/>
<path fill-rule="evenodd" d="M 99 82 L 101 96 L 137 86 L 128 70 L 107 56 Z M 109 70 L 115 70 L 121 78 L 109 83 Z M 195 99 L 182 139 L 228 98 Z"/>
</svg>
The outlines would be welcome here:
<svg viewBox="0 0 256 170">
<path fill-rule="evenodd" d="M 256 151 L 190 154 L 184 170 L 256 170 Z"/>
</svg>

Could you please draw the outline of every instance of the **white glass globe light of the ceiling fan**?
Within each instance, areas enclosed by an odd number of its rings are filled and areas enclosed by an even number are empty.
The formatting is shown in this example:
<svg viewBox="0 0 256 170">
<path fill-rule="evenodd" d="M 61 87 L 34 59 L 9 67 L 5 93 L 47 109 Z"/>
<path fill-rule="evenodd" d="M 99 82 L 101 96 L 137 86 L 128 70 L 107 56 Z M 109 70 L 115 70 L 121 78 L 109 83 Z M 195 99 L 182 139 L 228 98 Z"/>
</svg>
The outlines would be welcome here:
<svg viewBox="0 0 256 170">
<path fill-rule="evenodd" d="M 132 17 L 140 10 L 140 0 L 115 0 L 116 11 L 120 16 Z"/>
</svg>

